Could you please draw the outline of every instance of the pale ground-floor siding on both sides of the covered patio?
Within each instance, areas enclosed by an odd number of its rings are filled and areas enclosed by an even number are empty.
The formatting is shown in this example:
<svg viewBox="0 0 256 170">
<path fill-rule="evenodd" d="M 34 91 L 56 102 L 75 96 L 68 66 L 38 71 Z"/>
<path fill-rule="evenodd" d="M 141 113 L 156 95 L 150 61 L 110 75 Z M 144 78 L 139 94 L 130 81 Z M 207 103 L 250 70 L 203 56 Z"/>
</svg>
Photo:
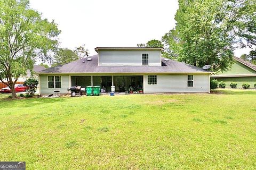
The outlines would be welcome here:
<svg viewBox="0 0 256 170">
<path fill-rule="evenodd" d="M 115 74 L 114 74 L 115 75 Z M 149 74 L 157 75 L 157 74 Z M 189 74 L 191 75 L 191 74 Z M 143 75 L 143 91 L 148 92 L 209 92 L 209 74 L 193 74 L 194 87 L 187 87 L 187 74 L 158 74 L 157 84 L 148 85 L 147 75 Z M 39 76 L 40 94 L 54 94 L 54 90 L 60 90 L 60 94 L 69 94 L 69 75 L 61 75 L 62 87 L 48 88 L 47 75 Z"/>
</svg>

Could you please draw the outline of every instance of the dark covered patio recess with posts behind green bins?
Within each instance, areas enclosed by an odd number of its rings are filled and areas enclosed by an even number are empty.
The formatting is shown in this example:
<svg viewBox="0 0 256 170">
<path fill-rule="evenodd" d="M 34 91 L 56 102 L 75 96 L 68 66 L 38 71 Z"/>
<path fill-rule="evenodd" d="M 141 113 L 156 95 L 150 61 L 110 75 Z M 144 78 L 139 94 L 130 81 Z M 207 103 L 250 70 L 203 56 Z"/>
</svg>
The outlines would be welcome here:
<svg viewBox="0 0 256 170">
<path fill-rule="evenodd" d="M 100 86 L 102 93 L 143 90 L 143 75 L 78 75 L 71 76 L 71 86 Z"/>
</svg>

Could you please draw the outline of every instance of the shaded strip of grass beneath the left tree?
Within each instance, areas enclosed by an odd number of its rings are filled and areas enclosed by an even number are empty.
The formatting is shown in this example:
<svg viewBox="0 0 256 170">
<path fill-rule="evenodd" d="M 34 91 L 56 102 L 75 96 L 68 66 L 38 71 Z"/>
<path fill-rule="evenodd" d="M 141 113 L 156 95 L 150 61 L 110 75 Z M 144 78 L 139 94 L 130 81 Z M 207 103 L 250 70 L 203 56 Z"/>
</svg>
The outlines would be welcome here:
<svg viewBox="0 0 256 170">
<path fill-rule="evenodd" d="M 0 98 L 0 108 L 12 107 L 31 107 L 48 103 L 65 101 L 65 98 L 22 98 L 22 99 L 6 99 Z"/>
</svg>

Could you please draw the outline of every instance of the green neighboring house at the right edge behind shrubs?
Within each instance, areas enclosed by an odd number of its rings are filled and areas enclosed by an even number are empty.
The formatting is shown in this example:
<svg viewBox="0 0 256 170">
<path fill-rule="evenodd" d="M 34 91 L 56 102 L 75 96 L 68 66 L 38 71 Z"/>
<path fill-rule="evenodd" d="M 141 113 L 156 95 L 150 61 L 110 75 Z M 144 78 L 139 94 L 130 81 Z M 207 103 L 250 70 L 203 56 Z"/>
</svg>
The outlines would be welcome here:
<svg viewBox="0 0 256 170">
<path fill-rule="evenodd" d="M 238 57 L 234 57 L 234 60 L 235 63 L 230 70 L 217 75 L 211 75 L 211 77 L 225 82 L 227 88 L 229 88 L 231 82 L 237 82 L 237 88 L 242 88 L 243 82 L 249 83 L 251 88 L 254 88 L 254 83 L 256 83 L 256 65 Z"/>
</svg>

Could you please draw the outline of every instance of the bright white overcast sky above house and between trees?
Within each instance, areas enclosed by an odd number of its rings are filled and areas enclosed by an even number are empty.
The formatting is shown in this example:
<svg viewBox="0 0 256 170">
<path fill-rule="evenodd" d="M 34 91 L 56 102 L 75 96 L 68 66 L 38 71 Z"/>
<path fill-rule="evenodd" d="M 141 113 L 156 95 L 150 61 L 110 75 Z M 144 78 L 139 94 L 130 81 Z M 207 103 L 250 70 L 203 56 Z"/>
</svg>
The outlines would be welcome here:
<svg viewBox="0 0 256 170">
<path fill-rule="evenodd" d="M 161 40 L 175 26 L 178 0 L 30 0 L 30 6 L 58 24 L 61 47 L 85 44 L 94 55 L 95 47 L 135 47 Z M 238 49 L 235 55 L 248 52 Z"/>
</svg>

